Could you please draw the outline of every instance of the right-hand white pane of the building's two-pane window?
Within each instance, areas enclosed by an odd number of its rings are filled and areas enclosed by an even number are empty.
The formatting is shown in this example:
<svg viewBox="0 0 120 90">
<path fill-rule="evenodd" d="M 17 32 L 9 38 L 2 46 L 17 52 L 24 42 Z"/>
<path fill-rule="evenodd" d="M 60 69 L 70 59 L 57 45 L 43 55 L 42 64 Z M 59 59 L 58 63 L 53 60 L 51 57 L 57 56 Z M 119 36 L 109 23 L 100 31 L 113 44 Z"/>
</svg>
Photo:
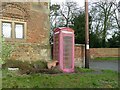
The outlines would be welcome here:
<svg viewBox="0 0 120 90">
<path fill-rule="evenodd" d="M 23 25 L 22 24 L 15 24 L 15 37 L 16 38 L 23 38 Z"/>
</svg>

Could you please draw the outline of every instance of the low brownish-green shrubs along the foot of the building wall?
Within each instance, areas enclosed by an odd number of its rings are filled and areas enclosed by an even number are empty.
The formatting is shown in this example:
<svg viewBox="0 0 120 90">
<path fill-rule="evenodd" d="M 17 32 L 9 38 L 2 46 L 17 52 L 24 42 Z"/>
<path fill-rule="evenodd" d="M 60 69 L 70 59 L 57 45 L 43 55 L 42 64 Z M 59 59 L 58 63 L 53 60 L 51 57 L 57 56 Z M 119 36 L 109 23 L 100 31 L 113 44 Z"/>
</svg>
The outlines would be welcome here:
<svg viewBox="0 0 120 90">
<path fill-rule="evenodd" d="M 29 63 L 28 61 L 19 61 L 19 60 L 7 60 L 3 64 L 3 68 L 19 68 L 20 74 L 33 74 L 33 73 L 46 73 L 46 74 L 57 74 L 61 73 L 58 70 L 58 67 L 55 67 L 51 70 L 47 69 L 47 62 L 35 61 Z"/>
</svg>

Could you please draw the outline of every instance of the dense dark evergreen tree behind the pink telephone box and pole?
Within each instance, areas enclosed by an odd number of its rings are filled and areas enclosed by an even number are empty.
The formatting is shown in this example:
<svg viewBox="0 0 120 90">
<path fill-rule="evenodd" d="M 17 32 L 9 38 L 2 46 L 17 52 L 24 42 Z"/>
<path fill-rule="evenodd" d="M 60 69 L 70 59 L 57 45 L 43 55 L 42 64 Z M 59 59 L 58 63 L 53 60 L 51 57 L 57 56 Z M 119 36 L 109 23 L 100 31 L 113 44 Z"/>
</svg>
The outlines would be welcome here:
<svg viewBox="0 0 120 90">
<path fill-rule="evenodd" d="M 73 19 L 73 25 L 70 26 L 75 30 L 75 43 L 85 44 L 85 12 L 81 12 Z M 91 16 L 89 16 L 89 30 L 91 29 Z"/>
</svg>

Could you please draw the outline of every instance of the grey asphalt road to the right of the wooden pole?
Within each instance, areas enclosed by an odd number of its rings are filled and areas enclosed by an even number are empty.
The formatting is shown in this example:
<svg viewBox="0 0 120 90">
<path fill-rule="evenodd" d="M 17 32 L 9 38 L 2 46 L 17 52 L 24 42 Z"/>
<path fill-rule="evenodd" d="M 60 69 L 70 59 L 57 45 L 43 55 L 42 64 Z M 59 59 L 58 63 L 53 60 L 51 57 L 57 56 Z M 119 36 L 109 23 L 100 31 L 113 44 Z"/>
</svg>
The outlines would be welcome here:
<svg viewBox="0 0 120 90">
<path fill-rule="evenodd" d="M 98 70 L 113 70 L 113 71 L 119 71 L 118 70 L 118 60 L 110 60 L 110 61 L 90 61 L 90 68 L 91 69 L 98 69 Z"/>
</svg>

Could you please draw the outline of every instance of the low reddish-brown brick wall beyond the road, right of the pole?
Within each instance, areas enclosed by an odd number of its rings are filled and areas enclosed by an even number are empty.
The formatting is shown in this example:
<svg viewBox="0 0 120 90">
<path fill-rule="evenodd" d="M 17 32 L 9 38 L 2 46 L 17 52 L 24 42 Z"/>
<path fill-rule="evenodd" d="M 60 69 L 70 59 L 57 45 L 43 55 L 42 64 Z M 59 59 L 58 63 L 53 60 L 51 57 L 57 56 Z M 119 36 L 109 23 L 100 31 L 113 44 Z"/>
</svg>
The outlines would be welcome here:
<svg viewBox="0 0 120 90">
<path fill-rule="evenodd" d="M 118 57 L 120 48 L 90 48 L 90 57 Z"/>
</svg>

